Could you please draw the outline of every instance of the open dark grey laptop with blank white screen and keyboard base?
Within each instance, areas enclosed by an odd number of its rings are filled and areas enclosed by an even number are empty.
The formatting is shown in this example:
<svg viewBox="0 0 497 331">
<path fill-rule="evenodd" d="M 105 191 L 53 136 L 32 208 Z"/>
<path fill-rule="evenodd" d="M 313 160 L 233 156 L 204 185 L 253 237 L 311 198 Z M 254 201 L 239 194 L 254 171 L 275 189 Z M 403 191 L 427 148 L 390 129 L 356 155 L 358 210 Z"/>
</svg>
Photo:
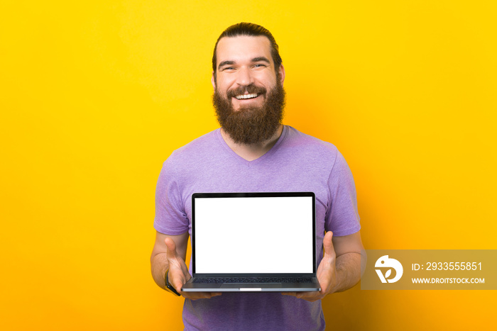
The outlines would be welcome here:
<svg viewBox="0 0 497 331">
<path fill-rule="evenodd" d="M 321 291 L 315 194 L 194 193 L 185 292 Z"/>
</svg>

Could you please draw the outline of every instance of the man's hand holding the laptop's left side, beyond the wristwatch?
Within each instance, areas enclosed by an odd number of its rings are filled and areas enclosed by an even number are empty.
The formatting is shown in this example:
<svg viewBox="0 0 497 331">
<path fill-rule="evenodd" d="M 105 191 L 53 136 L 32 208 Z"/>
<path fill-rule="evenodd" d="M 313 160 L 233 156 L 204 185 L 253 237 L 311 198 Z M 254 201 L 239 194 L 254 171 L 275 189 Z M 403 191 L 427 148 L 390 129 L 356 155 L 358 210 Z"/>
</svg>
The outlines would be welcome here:
<svg viewBox="0 0 497 331">
<path fill-rule="evenodd" d="M 165 238 L 165 246 L 167 248 L 166 254 L 168 258 L 169 283 L 181 294 L 181 296 L 191 299 L 208 299 L 213 296 L 220 296 L 221 293 L 214 292 L 183 292 L 181 288 L 192 276 L 188 272 L 188 267 L 185 264 L 185 260 L 182 259 L 176 252 L 176 244 L 171 238 Z"/>
</svg>

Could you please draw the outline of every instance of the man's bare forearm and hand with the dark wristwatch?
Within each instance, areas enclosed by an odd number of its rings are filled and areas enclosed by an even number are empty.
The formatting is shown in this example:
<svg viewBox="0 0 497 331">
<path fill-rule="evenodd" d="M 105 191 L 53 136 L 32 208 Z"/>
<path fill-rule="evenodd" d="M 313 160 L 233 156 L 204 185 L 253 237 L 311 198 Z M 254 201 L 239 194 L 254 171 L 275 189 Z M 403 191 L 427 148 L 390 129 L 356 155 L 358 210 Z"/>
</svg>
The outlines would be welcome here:
<svg viewBox="0 0 497 331">
<path fill-rule="evenodd" d="M 151 256 L 153 280 L 160 288 L 165 288 L 165 271 L 169 269 L 169 283 L 181 296 L 192 300 L 220 296 L 221 293 L 181 291 L 183 284 L 192 277 L 185 264 L 188 237 L 190 237 L 188 232 L 182 235 L 164 235 L 160 232 L 155 234 L 155 245 Z"/>
</svg>

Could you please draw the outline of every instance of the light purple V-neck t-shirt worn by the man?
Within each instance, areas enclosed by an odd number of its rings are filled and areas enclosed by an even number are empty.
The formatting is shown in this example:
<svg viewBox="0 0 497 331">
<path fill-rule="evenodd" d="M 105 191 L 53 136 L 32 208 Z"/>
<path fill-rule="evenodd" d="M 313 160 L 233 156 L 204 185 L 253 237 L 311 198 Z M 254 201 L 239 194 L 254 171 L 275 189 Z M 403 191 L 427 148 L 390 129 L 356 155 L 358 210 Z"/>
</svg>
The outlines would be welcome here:
<svg viewBox="0 0 497 331">
<path fill-rule="evenodd" d="M 325 230 L 343 236 L 361 228 L 354 179 L 337 147 L 288 125 L 271 150 L 253 161 L 236 155 L 219 129 L 175 150 L 158 179 L 154 227 L 167 235 L 191 235 L 195 192 L 274 191 L 315 193 L 317 265 Z M 271 292 L 186 299 L 183 322 L 186 330 L 324 330 L 321 301 Z"/>
</svg>

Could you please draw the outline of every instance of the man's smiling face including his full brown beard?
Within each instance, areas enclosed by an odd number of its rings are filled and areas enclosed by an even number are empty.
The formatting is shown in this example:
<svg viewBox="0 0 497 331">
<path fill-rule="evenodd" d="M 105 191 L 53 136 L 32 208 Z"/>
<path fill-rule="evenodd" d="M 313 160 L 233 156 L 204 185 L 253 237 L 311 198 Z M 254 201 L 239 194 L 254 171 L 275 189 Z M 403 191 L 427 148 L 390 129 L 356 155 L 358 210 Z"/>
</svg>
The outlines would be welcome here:
<svg viewBox="0 0 497 331">
<path fill-rule="evenodd" d="M 222 38 L 212 76 L 214 107 L 223 130 L 237 143 L 271 138 L 283 118 L 283 66 L 276 74 L 271 44 L 264 36 Z"/>
</svg>

